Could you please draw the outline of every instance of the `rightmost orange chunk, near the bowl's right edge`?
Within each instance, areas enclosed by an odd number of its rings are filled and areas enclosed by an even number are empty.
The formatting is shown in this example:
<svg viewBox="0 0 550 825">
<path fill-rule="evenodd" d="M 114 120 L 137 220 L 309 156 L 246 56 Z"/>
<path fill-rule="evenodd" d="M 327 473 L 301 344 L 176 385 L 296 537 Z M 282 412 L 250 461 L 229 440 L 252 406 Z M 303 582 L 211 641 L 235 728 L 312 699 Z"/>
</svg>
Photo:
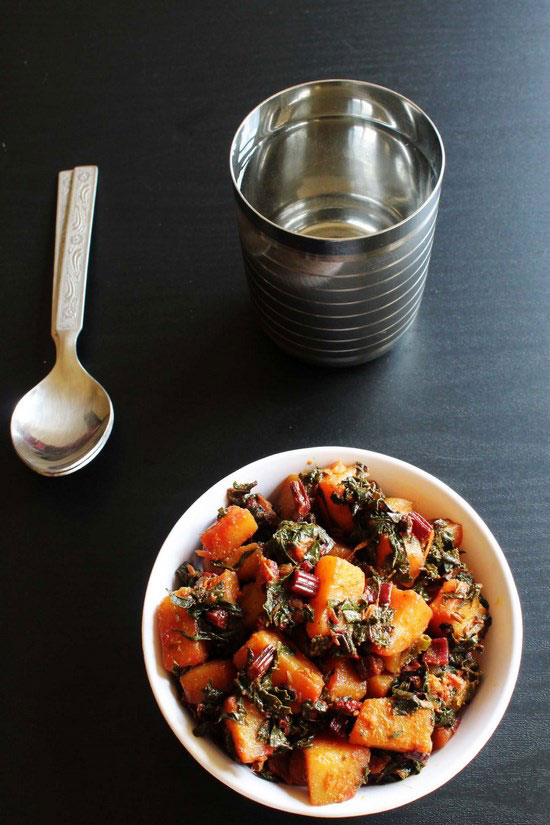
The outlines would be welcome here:
<svg viewBox="0 0 550 825">
<path fill-rule="evenodd" d="M 474 596 L 470 601 L 464 601 L 460 595 L 467 590 L 467 583 L 450 579 L 443 584 L 439 593 L 431 602 L 433 617 L 430 621 L 430 632 L 434 636 L 441 636 L 444 630 L 441 625 L 452 627 L 455 639 L 468 639 L 479 632 L 487 617 L 487 609 L 483 607 L 479 598 Z M 453 598 L 456 594 L 456 598 Z"/>
</svg>

